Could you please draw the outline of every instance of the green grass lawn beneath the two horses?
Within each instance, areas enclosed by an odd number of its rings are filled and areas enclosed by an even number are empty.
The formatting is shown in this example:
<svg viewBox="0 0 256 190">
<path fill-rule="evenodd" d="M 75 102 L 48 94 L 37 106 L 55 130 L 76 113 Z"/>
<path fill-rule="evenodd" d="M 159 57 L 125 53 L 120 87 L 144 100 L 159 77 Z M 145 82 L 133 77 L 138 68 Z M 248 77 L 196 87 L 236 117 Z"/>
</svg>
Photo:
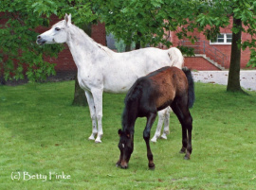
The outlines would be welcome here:
<svg viewBox="0 0 256 190">
<path fill-rule="evenodd" d="M 172 113 L 168 140 L 151 143 L 152 171 L 144 118 L 137 119 L 129 168 L 116 167 L 125 95 L 103 95 L 104 135 L 95 144 L 87 140 L 88 108 L 71 106 L 73 91 L 74 81 L 0 86 L 0 189 L 256 188 L 255 92 L 229 94 L 225 86 L 196 83 L 191 160 L 178 153 L 181 128 Z"/>
</svg>

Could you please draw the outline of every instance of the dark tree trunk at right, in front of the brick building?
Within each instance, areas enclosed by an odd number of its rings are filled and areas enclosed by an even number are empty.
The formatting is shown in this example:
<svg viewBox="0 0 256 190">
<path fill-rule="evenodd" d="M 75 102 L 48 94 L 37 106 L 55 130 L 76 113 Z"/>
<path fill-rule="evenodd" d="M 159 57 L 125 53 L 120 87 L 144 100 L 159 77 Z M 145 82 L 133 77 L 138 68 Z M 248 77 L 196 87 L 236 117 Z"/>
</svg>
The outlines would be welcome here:
<svg viewBox="0 0 256 190">
<path fill-rule="evenodd" d="M 239 32 L 232 32 L 232 45 L 229 67 L 229 80 L 227 91 L 229 92 L 244 92 L 240 86 L 240 61 L 241 61 L 241 35 L 242 21 L 241 19 L 233 18 L 233 27 L 238 27 Z"/>
</svg>

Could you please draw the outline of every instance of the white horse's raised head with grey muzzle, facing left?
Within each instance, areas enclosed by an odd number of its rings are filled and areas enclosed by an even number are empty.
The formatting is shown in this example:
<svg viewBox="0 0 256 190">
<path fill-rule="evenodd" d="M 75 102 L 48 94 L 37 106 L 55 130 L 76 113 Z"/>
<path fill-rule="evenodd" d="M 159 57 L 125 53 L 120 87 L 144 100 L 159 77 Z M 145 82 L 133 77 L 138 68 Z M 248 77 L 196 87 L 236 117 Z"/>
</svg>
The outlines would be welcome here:
<svg viewBox="0 0 256 190">
<path fill-rule="evenodd" d="M 67 40 L 66 28 L 71 26 L 71 14 L 65 14 L 64 20 L 52 26 L 45 33 L 37 37 L 36 43 L 65 43 Z"/>
</svg>

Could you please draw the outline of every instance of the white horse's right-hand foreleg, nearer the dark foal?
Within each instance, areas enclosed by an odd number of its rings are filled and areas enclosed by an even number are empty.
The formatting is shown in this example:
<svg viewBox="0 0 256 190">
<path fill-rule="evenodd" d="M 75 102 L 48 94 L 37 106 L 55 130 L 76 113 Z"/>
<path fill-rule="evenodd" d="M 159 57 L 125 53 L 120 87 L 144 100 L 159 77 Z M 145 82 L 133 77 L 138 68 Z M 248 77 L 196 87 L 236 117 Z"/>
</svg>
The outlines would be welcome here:
<svg viewBox="0 0 256 190">
<path fill-rule="evenodd" d="M 101 136 L 103 135 L 103 130 L 102 130 L 102 94 L 103 91 L 101 89 L 92 89 L 91 90 L 93 99 L 94 99 L 94 104 L 95 104 L 95 111 L 96 111 L 96 118 L 98 121 L 98 135 L 95 140 L 95 143 L 101 143 Z"/>
</svg>

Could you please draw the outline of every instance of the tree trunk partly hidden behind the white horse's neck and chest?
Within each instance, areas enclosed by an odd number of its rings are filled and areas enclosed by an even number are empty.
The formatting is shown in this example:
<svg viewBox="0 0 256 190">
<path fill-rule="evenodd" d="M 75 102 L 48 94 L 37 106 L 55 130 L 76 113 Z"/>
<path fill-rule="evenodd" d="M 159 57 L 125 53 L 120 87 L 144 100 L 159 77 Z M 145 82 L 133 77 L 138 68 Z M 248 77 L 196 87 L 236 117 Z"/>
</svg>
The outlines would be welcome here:
<svg viewBox="0 0 256 190">
<path fill-rule="evenodd" d="M 88 36 L 91 36 L 92 27 L 90 24 L 82 26 L 82 29 Z M 75 93 L 74 93 L 74 99 L 73 99 L 72 105 L 73 106 L 87 106 L 88 105 L 84 91 L 82 90 L 82 88 L 79 85 L 77 76 L 75 78 Z"/>
</svg>

